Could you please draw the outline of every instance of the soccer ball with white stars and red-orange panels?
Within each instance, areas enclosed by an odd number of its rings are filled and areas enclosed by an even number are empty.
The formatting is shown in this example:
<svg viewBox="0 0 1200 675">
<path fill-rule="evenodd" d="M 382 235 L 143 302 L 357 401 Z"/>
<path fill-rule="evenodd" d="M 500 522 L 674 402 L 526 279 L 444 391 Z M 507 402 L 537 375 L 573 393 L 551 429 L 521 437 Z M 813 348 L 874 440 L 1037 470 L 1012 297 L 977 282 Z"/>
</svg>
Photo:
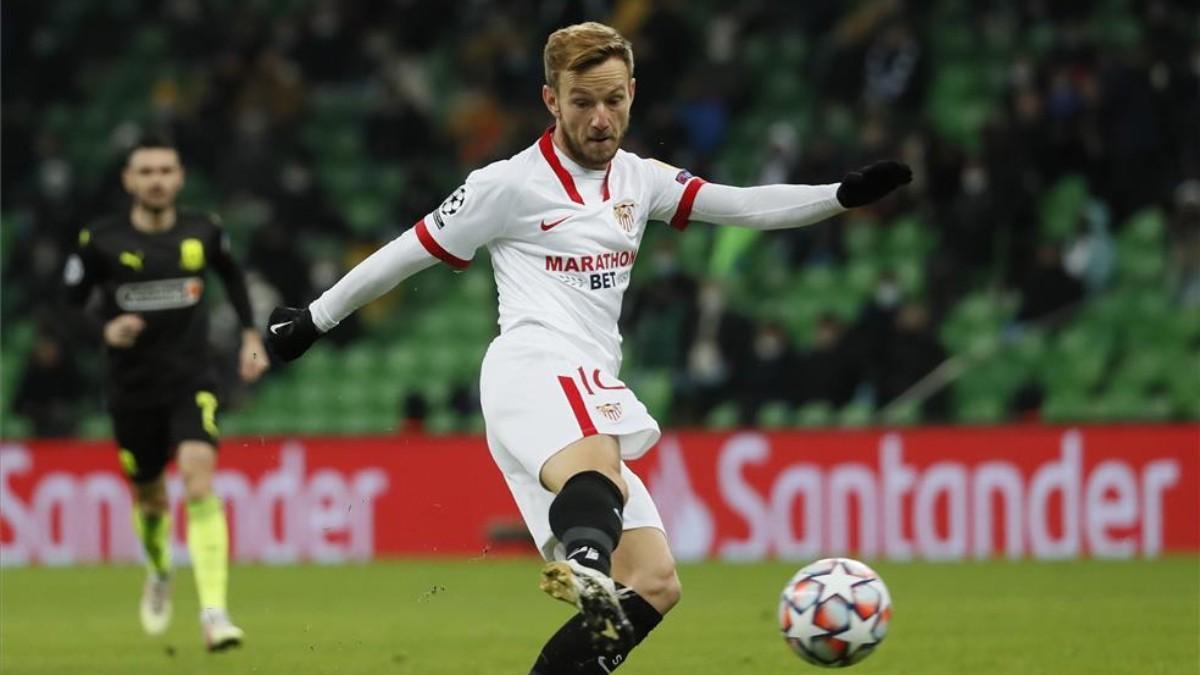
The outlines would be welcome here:
<svg viewBox="0 0 1200 675">
<path fill-rule="evenodd" d="M 827 557 L 800 569 L 779 598 L 784 640 L 804 661 L 839 668 L 871 655 L 888 634 L 892 596 L 874 569 Z"/>
</svg>

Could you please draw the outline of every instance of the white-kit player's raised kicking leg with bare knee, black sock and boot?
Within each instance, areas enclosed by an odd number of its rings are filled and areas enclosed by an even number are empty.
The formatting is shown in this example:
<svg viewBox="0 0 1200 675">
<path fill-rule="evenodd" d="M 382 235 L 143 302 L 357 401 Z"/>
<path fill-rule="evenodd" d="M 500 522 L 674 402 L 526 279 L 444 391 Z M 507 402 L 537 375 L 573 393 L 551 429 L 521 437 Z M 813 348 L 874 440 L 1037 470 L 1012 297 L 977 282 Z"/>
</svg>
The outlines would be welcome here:
<svg viewBox="0 0 1200 675">
<path fill-rule="evenodd" d="M 632 641 L 634 631 L 610 575 L 629 494 L 617 440 L 599 435 L 571 443 L 542 465 L 540 479 L 557 495 L 550 525 L 566 551 L 565 561 L 542 568 L 541 590 L 578 608 L 604 651 L 620 651 Z"/>
</svg>

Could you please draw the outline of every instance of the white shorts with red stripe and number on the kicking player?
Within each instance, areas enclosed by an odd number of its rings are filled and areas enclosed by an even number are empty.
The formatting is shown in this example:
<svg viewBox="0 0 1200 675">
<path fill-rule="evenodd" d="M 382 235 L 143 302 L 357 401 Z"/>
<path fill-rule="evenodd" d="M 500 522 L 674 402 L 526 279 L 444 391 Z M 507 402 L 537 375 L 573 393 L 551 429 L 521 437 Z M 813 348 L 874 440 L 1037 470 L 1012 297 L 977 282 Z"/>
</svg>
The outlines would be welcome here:
<svg viewBox="0 0 1200 675">
<path fill-rule="evenodd" d="M 480 371 L 487 447 L 521 516 L 547 560 L 564 551 L 550 530 L 554 494 L 541 485 L 541 466 L 580 438 L 617 438 L 622 459 L 636 459 L 661 431 L 634 392 L 568 338 L 540 325 L 516 327 L 496 340 Z M 625 462 L 625 530 L 664 530 L 650 494 Z"/>
</svg>

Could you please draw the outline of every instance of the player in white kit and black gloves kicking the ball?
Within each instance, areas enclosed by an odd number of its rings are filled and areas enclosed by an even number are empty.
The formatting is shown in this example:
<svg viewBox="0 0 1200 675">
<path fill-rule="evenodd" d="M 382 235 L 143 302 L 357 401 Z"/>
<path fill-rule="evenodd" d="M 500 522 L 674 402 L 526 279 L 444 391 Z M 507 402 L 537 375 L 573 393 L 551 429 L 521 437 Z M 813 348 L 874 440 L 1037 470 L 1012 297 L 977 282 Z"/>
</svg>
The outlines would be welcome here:
<svg viewBox="0 0 1200 675">
<path fill-rule="evenodd" d="M 596 23 L 560 29 L 544 60 L 554 125 L 472 172 L 307 309 L 276 307 L 268 342 L 278 358 L 298 358 L 400 281 L 439 261 L 463 269 L 486 246 L 500 324 L 480 374 L 487 444 L 550 561 L 541 589 L 578 609 L 533 673 L 599 674 L 680 595 L 658 509 L 624 462 L 660 435 L 619 377 L 617 318 L 647 222 L 798 227 L 875 202 L 912 173 L 884 161 L 833 185 L 707 184 L 620 150 L 635 94 L 632 48 L 620 34 Z"/>
</svg>

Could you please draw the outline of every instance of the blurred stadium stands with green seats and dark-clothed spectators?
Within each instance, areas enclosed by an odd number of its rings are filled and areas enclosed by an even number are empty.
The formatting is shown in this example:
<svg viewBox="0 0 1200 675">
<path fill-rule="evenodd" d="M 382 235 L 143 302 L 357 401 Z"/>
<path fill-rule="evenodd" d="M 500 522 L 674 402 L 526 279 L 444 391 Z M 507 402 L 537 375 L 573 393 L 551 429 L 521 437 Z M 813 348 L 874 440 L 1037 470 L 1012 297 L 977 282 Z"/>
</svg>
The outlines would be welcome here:
<svg viewBox="0 0 1200 675">
<path fill-rule="evenodd" d="M 830 183 L 889 156 L 917 173 L 860 217 L 758 239 L 647 235 L 625 299 L 625 376 L 662 422 L 1200 417 L 1196 386 L 1176 375 L 1200 382 L 1190 2 L 166 0 L 2 13 L 6 436 L 86 434 L 80 420 L 103 405 L 98 348 L 50 299 L 80 226 L 125 208 L 118 171 L 143 131 L 180 143 L 182 202 L 221 214 L 256 310 L 306 303 L 470 167 L 536 138 L 548 121 L 538 47 L 584 19 L 634 42 L 628 150 L 744 185 Z M 412 324 L 442 305 L 398 295 L 338 331 L 371 334 L 374 354 L 396 340 L 420 350 Z M 474 311 L 492 312 L 481 298 Z M 1139 342 L 1105 311 L 1150 312 L 1147 330 L 1169 340 Z M 230 321 L 214 322 L 218 342 Z M 959 377 L 898 401 L 947 359 Z M 1084 365 L 1039 368 L 1050 362 Z M 306 376 L 276 369 L 260 387 Z M 390 422 L 442 414 L 444 429 L 469 429 L 474 392 L 469 377 L 409 388 Z M 254 410 L 263 393 L 228 394 Z"/>
</svg>

